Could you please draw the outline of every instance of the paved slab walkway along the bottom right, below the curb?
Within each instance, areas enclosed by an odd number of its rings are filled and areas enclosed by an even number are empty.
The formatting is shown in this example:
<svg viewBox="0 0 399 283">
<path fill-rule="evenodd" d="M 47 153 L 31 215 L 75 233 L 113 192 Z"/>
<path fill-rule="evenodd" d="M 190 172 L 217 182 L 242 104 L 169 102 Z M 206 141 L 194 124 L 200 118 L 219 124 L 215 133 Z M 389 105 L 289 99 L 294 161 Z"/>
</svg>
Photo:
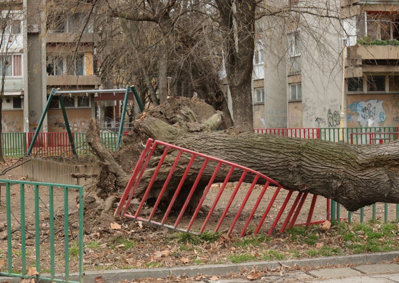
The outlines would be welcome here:
<svg viewBox="0 0 399 283">
<path fill-rule="evenodd" d="M 359 265 L 351 268 L 323 268 L 308 272 L 288 272 L 281 275 L 263 276 L 259 273 L 259 276 L 258 280 L 252 281 L 244 278 L 217 281 L 205 279 L 201 283 L 399 283 L 399 265 L 396 263 Z"/>
</svg>

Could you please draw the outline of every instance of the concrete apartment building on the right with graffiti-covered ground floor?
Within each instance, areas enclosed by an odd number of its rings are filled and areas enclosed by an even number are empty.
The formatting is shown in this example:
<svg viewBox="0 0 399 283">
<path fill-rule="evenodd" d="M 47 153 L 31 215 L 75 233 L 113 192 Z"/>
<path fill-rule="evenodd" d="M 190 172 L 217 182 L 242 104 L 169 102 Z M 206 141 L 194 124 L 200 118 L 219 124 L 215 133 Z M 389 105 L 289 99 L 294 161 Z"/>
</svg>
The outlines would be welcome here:
<svg viewBox="0 0 399 283">
<path fill-rule="evenodd" d="M 328 20 L 292 12 L 257 22 L 254 128 L 337 128 L 341 113 L 345 127 L 399 126 L 399 2 L 325 3 Z"/>
</svg>

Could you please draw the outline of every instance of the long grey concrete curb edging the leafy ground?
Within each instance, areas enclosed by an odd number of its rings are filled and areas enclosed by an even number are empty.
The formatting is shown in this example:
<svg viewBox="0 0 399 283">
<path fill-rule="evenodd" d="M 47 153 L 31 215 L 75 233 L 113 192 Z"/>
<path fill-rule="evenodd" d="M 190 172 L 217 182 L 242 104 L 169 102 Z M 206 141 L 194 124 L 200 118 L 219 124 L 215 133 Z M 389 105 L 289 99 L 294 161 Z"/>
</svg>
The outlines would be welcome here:
<svg viewBox="0 0 399 283">
<path fill-rule="evenodd" d="M 238 273 L 242 269 L 251 269 L 256 266 L 258 269 L 275 269 L 281 264 L 286 266 L 298 267 L 321 267 L 321 266 L 336 266 L 345 264 L 377 264 L 380 262 L 392 262 L 394 258 L 399 257 L 399 251 L 375 254 L 361 254 L 348 256 L 335 256 L 315 259 L 302 260 L 285 260 L 285 261 L 263 261 L 263 262 L 249 262 L 241 264 L 222 264 L 222 265 L 203 265 L 203 266 L 188 266 L 175 268 L 156 268 L 156 269 L 127 269 L 127 270 L 104 270 L 104 271 L 88 271 L 84 273 L 84 280 L 86 282 L 95 282 L 95 278 L 102 276 L 107 283 L 117 283 L 120 281 L 142 278 L 166 278 L 173 276 L 189 276 L 195 277 L 198 274 L 203 275 L 219 275 L 224 276 L 233 273 Z M 46 276 L 46 275 L 43 275 Z M 49 277 L 49 275 L 47 275 Z M 62 275 L 56 275 L 56 278 L 62 279 Z M 69 280 L 79 281 L 79 274 L 73 273 Z M 0 277 L 1 282 L 20 283 L 19 278 Z"/>
</svg>

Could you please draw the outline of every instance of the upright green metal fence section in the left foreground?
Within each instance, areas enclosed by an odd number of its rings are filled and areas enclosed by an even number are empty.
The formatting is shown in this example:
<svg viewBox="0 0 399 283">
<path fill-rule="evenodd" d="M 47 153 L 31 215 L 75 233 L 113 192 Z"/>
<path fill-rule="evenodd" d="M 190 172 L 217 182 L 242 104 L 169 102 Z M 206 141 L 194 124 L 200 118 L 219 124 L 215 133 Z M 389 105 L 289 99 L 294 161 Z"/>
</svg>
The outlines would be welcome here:
<svg viewBox="0 0 399 283">
<path fill-rule="evenodd" d="M 35 267 L 36 271 L 39 273 L 38 276 L 34 276 L 37 281 L 51 281 L 51 282 L 72 282 L 75 283 L 77 281 L 70 281 L 69 277 L 69 264 L 70 264 L 70 249 L 71 249 L 71 238 L 75 238 L 78 241 L 78 252 L 77 256 L 79 257 L 79 281 L 82 281 L 83 275 L 83 187 L 82 186 L 74 186 L 74 185 L 62 185 L 62 184 L 52 184 L 52 183 L 41 183 L 41 182 L 29 182 L 29 181 L 17 181 L 17 180 L 5 180 L 0 179 L 0 182 L 5 183 L 5 195 L 6 195 L 6 223 L 7 223 L 7 269 L 6 271 L 0 271 L 0 276 L 8 276 L 8 277 L 17 277 L 17 278 L 31 278 L 27 274 L 27 267 Z M 43 196 L 39 193 L 42 190 L 43 193 L 46 192 L 46 196 L 48 195 L 48 199 L 43 199 Z M 48 190 L 46 189 L 48 188 Z M 68 202 L 68 193 L 70 190 L 79 190 L 79 208 L 78 208 L 78 235 L 74 235 L 71 230 L 71 221 L 69 221 L 69 202 Z M 19 194 L 19 202 L 16 195 Z M 44 194 L 44 193 L 43 193 Z M 55 215 L 54 210 L 54 194 L 56 197 L 63 195 L 63 213 L 61 215 L 63 217 L 63 222 L 59 221 L 60 215 Z M 12 197 L 12 204 L 11 204 Z M 16 198 L 16 199 L 15 199 Z M 28 203 L 29 201 L 33 201 L 32 204 Z M 47 202 L 48 201 L 48 202 Z M 48 205 L 47 205 L 48 204 Z M 40 216 L 43 216 L 43 206 L 47 208 L 45 210 L 45 216 L 49 217 L 48 227 L 43 228 L 45 223 L 40 220 Z M 20 207 L 20 209 L 16 209 L 15 207 Z M 62 207 L 62 203 L 61 203 Z M 27 209 L 31 209 L 33 211 L 28 212 L 26 214 Z M 41 211 L 39 210 L 41 209 Z M 19 212 L 19 217 L 17 217 Z M 33 214 L 33 215 L 32 215 Z M 11 216 L 13 218 L 11 218 Z M 57 218 L 55 218 L 57 216 Z M 19 219 L 18 219 L 19 218 Z M 59 222 L 61 229 L 57 229 L 54 231 L 54 220 Z M 15 226 L 16 225 L 16 226 Z M 18 228 L 17 226 L 20 226 Z M 11 228 L 13 227 L 13 228 Z M 32 229 L 30 229 L 32 227 Z M 34 228 L 33 228 L 34 227 Z M 14 232 L 19 232 L 14 233 Z M 34 232 L 33 232 L 34 231 Z M 63 253 L 64 257 L 64 265 L 65 268 L 63 271 L 56 271 L 56 267 L 59 268 L 59 265 L 56 266 L 56 254 L 55 254 L 55 235 L 59 235 L 63 232 Z M 15 236 L 15 234 L 18 234 Z M 26 236 L 28 235 L 28 237 Z M 61 236 L 62 237 L 62 236 Z M 14 248 L 19 244 L 15 243 L 20 239 L 20 252 L 17 252 L 19 248 Z M 29 247 L 34 246 L 34 257 L 32 255 L 29 256 L 27 261 L 27 250 L 26 250 L 26 241 L 27 239 L 32 240 L 29 243 Z M 43 251 L 42 245 L 44 241 L 49 241 L 49 258 L 50 258 L 50 269 L 49 269 L 49 277 L 45 277 L 41 275 L 43 272 L 41 263 L 41 252 Z M 73 240 L 73 239 L 72 239 Z M 62 240 L 61 240 L 62 242 Z M 59 241 L 57 242 L 59 245 Z M 13 251 L 14 250 L 14 251 Z M 47 253 L 46 253 L 47 254 Z M 59 258 L 59 251 L 57 252 L 57 258 Z M 34 262 L 33 262 L 34 259 Z M 20 270 L 16 271 L 14 263 L 20 263 Z M 56 277 L 57 274 L 61 273 L 62 278 Z"/>
</svg>

